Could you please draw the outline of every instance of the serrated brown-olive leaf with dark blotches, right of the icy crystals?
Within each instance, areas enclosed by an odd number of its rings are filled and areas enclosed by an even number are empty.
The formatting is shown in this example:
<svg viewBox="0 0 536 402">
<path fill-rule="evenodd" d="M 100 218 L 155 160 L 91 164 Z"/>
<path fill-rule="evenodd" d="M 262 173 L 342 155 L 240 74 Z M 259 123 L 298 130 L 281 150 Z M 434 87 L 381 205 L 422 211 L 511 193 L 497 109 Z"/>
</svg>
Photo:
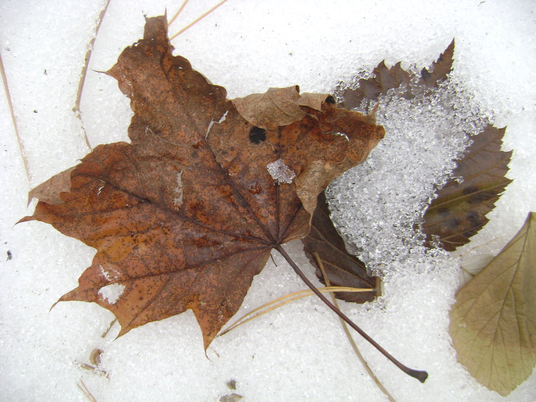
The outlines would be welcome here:
<svg viewBox="0 0 536 402">
<path fill-rule="evenodd" d="M 456 250 L 488 222 L 485 215 L 511 182 L 505 174 L 512 151 L 501 151 L 504 131 L 488 125 L 474 136 L 454 178 L 436 192 L 421 225 L 427 247 L 439 242 L 447 251 Z"/>
</svg>

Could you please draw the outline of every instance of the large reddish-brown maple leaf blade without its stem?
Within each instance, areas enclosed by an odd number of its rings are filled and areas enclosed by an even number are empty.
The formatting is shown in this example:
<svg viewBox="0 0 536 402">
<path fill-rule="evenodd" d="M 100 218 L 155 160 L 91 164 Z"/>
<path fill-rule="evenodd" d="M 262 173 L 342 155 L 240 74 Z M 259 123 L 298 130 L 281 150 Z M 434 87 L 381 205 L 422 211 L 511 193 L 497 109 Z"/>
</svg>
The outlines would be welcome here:
<svg viewBox="0 0 536 402">
<path fill-rule="evenodd" d="M 147 18 L 144 39 L 108 71 L 131 99 L 132 143 L 100 145 L 43 183 L 22 221 L 47 222 L 97 250 L 59 301 L 100 304 L 120 335 L 192 309 L 206 349 L 270 250 L 307 235 L 318 193 L 362 162 L 384 130 L 330 96 L 288 100 L 273 90 L 245 101 L 246 119 L 172 50 L 165 16 Z M 294 117 L 270 121 L 262 113 L 270 102 Z M 255 116 L 264 128 L 248 122 Z"/>
</svg>

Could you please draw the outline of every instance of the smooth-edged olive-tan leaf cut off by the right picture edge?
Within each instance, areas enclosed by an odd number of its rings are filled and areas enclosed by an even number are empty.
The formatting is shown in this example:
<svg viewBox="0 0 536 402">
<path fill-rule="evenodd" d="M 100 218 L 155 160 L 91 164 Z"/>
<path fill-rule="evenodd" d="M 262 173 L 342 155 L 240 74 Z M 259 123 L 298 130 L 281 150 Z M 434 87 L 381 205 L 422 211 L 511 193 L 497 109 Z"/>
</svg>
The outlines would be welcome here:
<svg viewBox="0 0 536 402">
<path fill-rule="evenodd" d="M 458 361 L 508 395 L 536 363 L 536 213 L 456 295 L 450 334 Z"/>
</svg>

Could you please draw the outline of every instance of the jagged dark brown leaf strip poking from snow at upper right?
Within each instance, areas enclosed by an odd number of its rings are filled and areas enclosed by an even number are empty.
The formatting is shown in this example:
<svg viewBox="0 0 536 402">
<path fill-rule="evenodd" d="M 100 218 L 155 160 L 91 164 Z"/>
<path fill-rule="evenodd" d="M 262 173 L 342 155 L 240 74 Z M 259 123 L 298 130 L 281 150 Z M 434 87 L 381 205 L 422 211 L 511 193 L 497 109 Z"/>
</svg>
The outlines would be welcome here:
<svg viewBox="0 0 536 402">
<path fill-rule="evenodd" d="M 401 68 L 401 62 L 396 63 L 391 68 L 387 68 L 385 61 L 377 65 L 370 78 L 360 79 L 355 88 L 347 88 L 345 87 L 345 83 L 341 81 L 336 88 L 336 93 L 341 98 L 339 106 L 348 110 L 355 109 L 364 100 L 377 101 L 380 95 L 401 85 L 408 87 L 407 92 L 403 95 L 406 99 L 412 99 L 414 97 L 412 94 L 413 86 L 437 87 L 452 71 L 454 47 L 455 41 L 452 39 L 452 42 L 450 42 L 449 46 L 438 57 L 437 61 L 433 62 L 430 66 L 430 70 L 426 68 L 421 70 L 421 76 L 416 83 L 414 83 L 416 77 L 413 73 Z"/>
</svg>

